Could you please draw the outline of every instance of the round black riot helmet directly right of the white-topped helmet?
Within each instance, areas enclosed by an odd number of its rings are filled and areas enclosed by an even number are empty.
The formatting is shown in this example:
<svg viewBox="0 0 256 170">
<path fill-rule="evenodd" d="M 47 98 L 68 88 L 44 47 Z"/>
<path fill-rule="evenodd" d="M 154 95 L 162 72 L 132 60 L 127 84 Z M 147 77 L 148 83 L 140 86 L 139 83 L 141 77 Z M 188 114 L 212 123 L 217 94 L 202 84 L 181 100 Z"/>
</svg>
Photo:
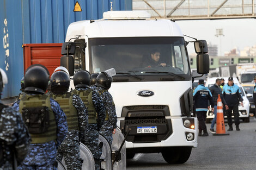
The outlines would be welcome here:
<svg viewBox="0 0 256 170">
<path fill-rule="evenodd" d="M 90 86 L 90 73 L 86 70 L 77 71 L 73 77 L 75 88 Z"/>
</svg>

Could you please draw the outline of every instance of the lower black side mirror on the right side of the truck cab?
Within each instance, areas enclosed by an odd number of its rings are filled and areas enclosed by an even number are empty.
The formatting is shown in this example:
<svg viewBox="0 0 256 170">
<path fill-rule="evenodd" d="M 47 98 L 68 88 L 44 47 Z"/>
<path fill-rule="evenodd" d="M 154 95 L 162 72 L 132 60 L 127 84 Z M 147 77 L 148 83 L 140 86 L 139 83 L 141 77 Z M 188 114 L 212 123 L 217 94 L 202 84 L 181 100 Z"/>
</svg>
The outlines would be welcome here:
<svg viewBox="0 0 256 170">
<path fill-rule="evenodd" d="M 209 73 L 209 55 L 208 54 L 197 54 L 197 73 L 207 74 Z"/>
</svg>

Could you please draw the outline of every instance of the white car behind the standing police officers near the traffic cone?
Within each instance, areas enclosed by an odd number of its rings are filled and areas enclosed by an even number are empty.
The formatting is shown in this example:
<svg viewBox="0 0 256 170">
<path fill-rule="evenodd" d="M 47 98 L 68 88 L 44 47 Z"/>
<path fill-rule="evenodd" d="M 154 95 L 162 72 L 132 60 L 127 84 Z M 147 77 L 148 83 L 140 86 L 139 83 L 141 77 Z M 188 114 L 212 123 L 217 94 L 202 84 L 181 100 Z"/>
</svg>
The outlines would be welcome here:
<svg viewBox="0 0 256 170">
<path fill-rule="evenodd" d="M 215 84 L 215 81 L 218 77 L 212 77 L 212 78 L 208 78 L 206 80 L 206 87 L 211 87 L 212 85 Z M 225 80 L 225 84 L 228 83 L 228 77 L 223 77 L 223 79 Z M 234 84 L 236 84 L 237 86 L 239 86 L 239 89 L 242 93 L 242 98 L 243 98 L 243 106 L 241 106 L 239 104 L 239 117 L 243 120 L 243 122 L 249 122 L 250 118 L 249 118 L 249 108 L 250 108 L 250 103 L 249 100 L 246 97 L 245 91 L 243 90 L 241 84 L 239 83 L 239 81 L 237 80 L 237 78 L 234 78 Z M 225 118 L 227 118 L 227 115 L 224 114 Z M 232 117 L 234 118 L 234 115 L 232 113 Z M 210 121 L 214 118 L 214 113 L 212 113 L 211 111 L 207 112 L 207 116 L 206 116 L 206 123 L 210 123 Z"/>
</svg>

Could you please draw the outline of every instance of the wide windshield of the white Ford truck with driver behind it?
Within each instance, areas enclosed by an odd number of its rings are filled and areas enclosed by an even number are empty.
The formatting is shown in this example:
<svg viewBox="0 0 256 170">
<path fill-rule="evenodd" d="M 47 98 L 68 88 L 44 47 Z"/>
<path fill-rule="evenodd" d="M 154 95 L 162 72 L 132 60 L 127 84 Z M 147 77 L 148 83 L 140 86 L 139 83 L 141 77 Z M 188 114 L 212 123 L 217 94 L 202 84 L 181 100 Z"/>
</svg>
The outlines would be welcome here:
<svg viewBox="0 0 256 170">
<path fill-rule="evenodd" d="M 191 80 L 183 37 L 89 39 L 91 72 L 115 68 L 114 81 Z"/>
</svg>

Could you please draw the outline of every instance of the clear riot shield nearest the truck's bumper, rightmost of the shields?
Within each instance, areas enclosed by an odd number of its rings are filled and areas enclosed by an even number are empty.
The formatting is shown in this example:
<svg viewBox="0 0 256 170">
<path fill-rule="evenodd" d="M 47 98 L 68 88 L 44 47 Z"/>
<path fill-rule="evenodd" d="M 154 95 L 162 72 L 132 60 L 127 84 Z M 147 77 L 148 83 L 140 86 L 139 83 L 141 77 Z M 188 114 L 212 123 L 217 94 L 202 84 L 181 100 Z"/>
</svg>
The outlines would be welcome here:
<svg viewBox="0 0 256 170">
<path fill-rule="evenodd" d="M 112 149 L 112 159 L 114 158 L 114 155 L 118 154 L 118 150 L 121 147 L 121 143 L 124 141 L 125 137 L 122 134 L 121 130 L 119 128 L 115 129 L 115 134 L 113 134 L 113 142 L 111 145 Z M 117 155 L 117 159 L 114 161 L 113 170 L 125 170 L 126 169 L 126 147 L 125 143 L 123 147 L 120 150 L 120 154 Z"/>
</svg>

